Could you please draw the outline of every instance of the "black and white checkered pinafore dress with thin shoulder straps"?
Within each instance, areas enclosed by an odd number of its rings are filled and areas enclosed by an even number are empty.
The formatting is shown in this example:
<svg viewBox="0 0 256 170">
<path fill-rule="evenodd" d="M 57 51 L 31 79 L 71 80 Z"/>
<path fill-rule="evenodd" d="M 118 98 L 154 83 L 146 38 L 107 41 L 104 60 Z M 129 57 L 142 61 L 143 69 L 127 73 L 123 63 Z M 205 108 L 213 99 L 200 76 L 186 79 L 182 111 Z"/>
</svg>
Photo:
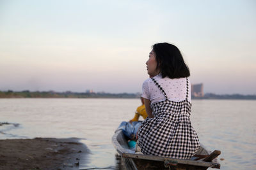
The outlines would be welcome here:
<svg viewBox="0 0 256 170">
<path fill-rule="evenodd" d="M 151 104 L 154 118 L 146 118 L 138 132 L 138 145 L 146 155 L 190 159 L 199 150 L 198 136 L 191 126 L 191 103 L 187 94 L 184 101 L 169 101 L 163 88 L 152 78 L 163 92 L 165 101 Z"/>
</svg>

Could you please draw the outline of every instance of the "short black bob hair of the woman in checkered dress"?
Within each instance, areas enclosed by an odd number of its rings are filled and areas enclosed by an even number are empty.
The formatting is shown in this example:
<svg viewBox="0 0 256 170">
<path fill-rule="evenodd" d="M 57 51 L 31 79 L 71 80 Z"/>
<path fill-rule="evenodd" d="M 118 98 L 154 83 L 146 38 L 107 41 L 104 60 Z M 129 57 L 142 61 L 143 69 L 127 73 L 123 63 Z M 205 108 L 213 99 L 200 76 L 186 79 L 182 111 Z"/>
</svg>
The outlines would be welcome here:
<svg viewBox="0 0 256 170">
<path fill-rule="evenodd" d="M 184 78 L 190 76 L 189 68 L 184 62 L 177 46 L 169 43 L 156 43 L 152 46 L 156 56 L 157 68 L 162 77 Z"/>
</svg>

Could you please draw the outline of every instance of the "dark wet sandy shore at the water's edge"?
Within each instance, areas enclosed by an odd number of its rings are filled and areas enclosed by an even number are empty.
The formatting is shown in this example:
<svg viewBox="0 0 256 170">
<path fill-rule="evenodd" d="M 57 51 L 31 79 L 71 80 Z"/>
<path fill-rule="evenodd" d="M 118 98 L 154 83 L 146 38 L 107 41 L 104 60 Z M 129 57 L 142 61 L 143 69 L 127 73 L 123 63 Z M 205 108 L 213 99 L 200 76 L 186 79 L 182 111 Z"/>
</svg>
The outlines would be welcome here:
<svg viewBox="0 0 256 170">
<path fill-rule="evenodd" d="M 0 140 L 0 170 L 79 169 L 79 161 L 89 153 L 77 138 Z"/>
</svg>

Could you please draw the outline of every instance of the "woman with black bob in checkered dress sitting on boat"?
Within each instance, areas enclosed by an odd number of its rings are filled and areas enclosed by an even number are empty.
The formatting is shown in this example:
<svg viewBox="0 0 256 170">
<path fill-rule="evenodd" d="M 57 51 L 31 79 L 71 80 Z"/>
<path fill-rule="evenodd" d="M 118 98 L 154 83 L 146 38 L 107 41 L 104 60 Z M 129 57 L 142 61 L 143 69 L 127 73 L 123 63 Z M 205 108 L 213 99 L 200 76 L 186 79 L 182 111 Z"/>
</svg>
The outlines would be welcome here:
<svg viewBox="0 0 256 170">
<path fill-rule="evenodd" d="M 150 78 L 142 97 L 148 118 L 138 131 L 138 146 L 146 155 L 190 159 L 200 147 L 190 122 L 189 68 L 177 46 L 156 43 L 146 62 Z"/>
</svg>

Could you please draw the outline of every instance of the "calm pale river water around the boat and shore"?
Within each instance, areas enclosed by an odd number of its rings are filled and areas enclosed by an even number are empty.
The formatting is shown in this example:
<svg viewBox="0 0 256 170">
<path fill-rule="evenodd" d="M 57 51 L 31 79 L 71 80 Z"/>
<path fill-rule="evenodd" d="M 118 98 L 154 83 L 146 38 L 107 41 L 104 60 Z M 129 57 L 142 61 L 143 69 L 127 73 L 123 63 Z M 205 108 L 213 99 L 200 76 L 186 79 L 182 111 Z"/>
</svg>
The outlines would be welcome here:
<svg viewBox="0 0 256 170">
<path fill-rule="evenodd" d="M 191 122 L 200 142 L 221 150 L 221 169 L 256 169 L 256 101 L 194 100 Z M 0 139 L 83 138 L 84 168 L 116 168 L 111 137 L 130 120 L 139 99 L 0 99 Z"/>
</svg>

